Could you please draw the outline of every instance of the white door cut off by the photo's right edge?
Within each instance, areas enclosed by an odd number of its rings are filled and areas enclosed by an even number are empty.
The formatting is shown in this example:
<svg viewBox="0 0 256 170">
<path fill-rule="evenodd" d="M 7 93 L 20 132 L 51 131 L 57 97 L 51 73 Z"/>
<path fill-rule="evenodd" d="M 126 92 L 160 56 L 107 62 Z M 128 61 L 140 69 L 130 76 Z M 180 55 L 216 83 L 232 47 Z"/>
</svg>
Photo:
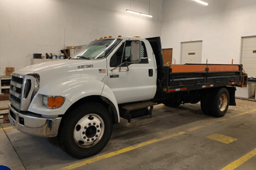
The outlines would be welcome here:
<svg viewBox="0 0 256 170">
<path fill-rule="evenodd" d="M 256 77 L 256 36 L 242 38 L 241 63 L 248 76 Z"/>
</svg>

